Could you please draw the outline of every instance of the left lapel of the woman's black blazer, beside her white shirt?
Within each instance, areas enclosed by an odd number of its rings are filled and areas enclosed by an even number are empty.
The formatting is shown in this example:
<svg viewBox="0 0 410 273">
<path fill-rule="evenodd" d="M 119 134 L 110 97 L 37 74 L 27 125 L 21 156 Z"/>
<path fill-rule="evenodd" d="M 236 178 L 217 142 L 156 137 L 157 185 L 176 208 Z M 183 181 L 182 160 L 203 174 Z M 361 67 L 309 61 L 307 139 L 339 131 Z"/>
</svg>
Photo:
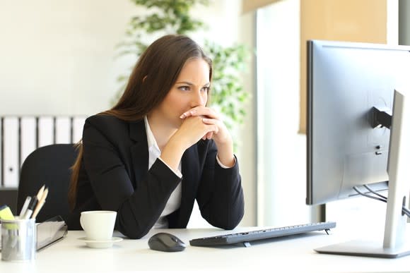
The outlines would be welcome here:
<svg viewBox="0 0 410 273">
<path fill-rule="evenodd" d="M 131 159 L 134 170 L 136 187 L 148 172 L 148 142 L 146 140 L 146 130 L 144 119 L 129 123 L 129 137 L 134 140 L 131 146 Z"/>
</svg>

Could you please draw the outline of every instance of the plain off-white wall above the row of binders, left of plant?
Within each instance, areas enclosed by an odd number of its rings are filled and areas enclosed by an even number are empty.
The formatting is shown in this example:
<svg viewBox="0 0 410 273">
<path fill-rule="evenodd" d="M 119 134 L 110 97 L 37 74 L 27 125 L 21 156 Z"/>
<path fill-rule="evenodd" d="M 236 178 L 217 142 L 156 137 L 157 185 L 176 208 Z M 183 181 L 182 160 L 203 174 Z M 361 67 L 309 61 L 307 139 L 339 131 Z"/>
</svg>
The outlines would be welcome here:
<svg viewBox="0 0 410 273">
<path fill-rule="evenodd" d="M 93 114 L 119 73 L 130 1 L 20 0 L 0 8 L 0 114 Z"/>
</svg>

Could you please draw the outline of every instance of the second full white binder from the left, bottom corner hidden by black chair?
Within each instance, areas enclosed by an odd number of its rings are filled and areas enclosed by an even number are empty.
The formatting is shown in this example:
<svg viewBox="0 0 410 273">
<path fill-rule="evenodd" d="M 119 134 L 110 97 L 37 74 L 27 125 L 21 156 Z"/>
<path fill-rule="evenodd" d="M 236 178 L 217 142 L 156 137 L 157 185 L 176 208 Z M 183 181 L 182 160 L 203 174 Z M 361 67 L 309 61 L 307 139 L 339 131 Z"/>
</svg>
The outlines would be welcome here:
<svg viewBox="0 0 410 273">
<path fill-rule="evenodd" d="M 35 116 L 21 117 L 21 165 L 25 158 L 35 150 L 36 145 L 36 126 Z"/>
</svg>

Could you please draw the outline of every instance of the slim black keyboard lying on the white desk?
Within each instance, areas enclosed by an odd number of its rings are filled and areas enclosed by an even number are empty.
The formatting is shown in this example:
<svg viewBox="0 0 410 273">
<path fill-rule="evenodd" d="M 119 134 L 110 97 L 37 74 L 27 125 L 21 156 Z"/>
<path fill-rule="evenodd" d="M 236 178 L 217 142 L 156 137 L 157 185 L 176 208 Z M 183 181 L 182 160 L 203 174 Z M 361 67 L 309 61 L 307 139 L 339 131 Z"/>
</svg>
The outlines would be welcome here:
<svg viewBox="0 0 410 273">
<path fill-rule="evenodd" d="M 189 241 L 194 246 L 212 246 L 212 245 L 230 245 L 233 243 L 244 243 L 250 245 L 250 241 L 257 241 L 269 238 L 291 236 L 310 231 L 329 231 L 336 226 L 336 222 L 318 222 L 309 224 L 300 224 L 295 226 L 282 226 L 274 229 L 261 229 L 257 231 L 246 231 L 240 233 L 229 233 L 221 236 L 211 236 L 196 238 Z"/>
</svg>

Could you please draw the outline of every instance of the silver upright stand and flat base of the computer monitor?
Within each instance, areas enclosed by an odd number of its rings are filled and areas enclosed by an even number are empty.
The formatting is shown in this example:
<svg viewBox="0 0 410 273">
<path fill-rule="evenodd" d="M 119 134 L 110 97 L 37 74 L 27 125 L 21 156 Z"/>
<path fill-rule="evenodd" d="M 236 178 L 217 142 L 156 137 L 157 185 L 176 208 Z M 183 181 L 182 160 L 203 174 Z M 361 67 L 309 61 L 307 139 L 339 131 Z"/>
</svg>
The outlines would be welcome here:
<svg viewBox="0 0 410 273">
<path fill-rule="evenodd" d="M 377 241 L 349 241 L 316 248 L 317 253 L 367 257 L 402 257 L 410 254 L 406 238 L 407 216 L 402 207 L 409 204 L 410 193 L 410 113 L 406 97 L 394 90 L 392 127 L 389 142 L 389 193 L 385 238 Z"/>
</svg>

